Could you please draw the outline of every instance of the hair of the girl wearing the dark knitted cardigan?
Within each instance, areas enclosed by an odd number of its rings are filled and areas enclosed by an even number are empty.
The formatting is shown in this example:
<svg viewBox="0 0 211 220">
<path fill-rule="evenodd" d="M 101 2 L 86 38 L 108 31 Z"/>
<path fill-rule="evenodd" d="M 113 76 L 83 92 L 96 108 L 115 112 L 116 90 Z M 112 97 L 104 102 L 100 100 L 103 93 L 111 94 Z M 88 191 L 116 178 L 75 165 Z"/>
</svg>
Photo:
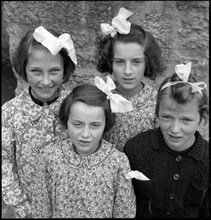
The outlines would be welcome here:
<svg viewBox="0 0 211 220">
<path fill-rule="evenodd" d="M 192 87 L 189 83 L 178 83 L 178 84 L 171 85 L 161 90 L 161 88 L 167 82 L 174 82 L 174 81 L 182 81 L 176 73 L 174 73 L 171 77 L 167 77 L 161 83 L 158 89 L 157 104 L 155 107 L 156 116 L 158 117 L 160 102 L 165 96 L 171 97 L 178 104 L 185 104 L 189 101 L 196 99 L 198 103 L 198 107 L 199 107 L 200 121 L 202 120 L 202 118 L 204 118 L 205 122 L 207 122 L 207 116 L 209 112 L 207 90 L 202 89 L 201 90 L 202 95 L 199 92 L 193 93 Z M 196 82 L 196 80 L 192 75 L 190 75 L 188 82 L 193 83 L 193 82 Z"/>
</svg>

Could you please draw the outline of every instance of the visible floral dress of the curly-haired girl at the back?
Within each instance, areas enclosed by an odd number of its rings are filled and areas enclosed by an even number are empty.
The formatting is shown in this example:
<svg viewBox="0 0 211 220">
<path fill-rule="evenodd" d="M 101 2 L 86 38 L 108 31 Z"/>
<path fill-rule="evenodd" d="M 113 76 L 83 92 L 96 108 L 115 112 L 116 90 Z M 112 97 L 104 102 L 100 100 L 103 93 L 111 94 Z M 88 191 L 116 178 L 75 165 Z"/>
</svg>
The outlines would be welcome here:
<svg viewBox="0 0 211 220">
<path fill-rule="evenodd" d="M 116 123 L 104 137 L 120 151 L 124 150 L 128 139 L 140 132 L 158 127 L 158 119 L 155 115 L 156 90 L 144 84 L 144 88 L 138 94 L 124 97 L 132 102 L 133 110 L 116 113 Z"/>
</svg>

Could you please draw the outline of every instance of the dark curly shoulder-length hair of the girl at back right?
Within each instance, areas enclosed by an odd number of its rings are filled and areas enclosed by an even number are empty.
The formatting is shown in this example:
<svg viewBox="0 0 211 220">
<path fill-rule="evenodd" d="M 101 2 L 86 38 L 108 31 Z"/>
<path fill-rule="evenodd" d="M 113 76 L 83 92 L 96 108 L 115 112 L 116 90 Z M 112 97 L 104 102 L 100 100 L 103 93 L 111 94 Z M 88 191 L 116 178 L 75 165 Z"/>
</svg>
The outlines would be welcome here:
<svg viewBox="0 0 211 220">
<path fill-rule="evenodd" d="M 160 46 L 149 32 L 137 24 L 131 24 L 129 34 L 107 35 L 96 38 L 97 70 L 112 74 L 113 50 L 116 42 L 138 43 L 144 47 L 146 69 L 144 76 L 155 79 L 165 69 Z"/>
</svg>

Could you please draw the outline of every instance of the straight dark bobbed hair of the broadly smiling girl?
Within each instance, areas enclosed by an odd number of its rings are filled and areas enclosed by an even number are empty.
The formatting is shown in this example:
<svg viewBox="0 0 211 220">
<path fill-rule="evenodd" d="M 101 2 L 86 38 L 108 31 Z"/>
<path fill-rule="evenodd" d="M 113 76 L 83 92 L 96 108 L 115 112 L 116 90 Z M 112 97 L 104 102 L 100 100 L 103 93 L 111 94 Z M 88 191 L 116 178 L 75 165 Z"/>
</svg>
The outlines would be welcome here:
<svg viewBox="0 0 211 220">
<path fill-rule="evenodd" d="M 59 34 L 54 30 L 47 29 L 55 37 L 59 37 Z M 28 60 L 28 53 L 30 48 L 39 47 L 42 50 L 49 51 L 41 43 L 37 42 L 33 37 L 34 30 L 29 30 L 26 35 L 20 40 L 20 43 L 12 56 L 12 65 L 16 73 L 26 82 L 28 82 L 26 75 L 26 65 Z M 62 48 L 59 53 L 64 60 L 64 78 L 63 83 L 67 82 L 70 75 L 75 71 L 75 64 L 68 56 L 66 49 Z"/>
</svg>

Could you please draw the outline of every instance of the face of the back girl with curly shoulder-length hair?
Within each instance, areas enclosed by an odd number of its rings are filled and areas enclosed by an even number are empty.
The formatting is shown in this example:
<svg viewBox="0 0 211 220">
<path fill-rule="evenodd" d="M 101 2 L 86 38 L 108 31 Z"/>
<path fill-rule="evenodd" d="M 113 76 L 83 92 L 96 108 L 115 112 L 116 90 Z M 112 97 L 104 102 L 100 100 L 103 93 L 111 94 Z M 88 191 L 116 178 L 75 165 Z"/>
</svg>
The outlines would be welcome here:
<svg viewBox="0 0 211 220">
<path fill-rule="evenodd" d="M 119 93 L 133 95 L 140 92 L 146 69 L 144 48 L 138 43 L 116 42 L 112 68 Z"/>
</svg>

